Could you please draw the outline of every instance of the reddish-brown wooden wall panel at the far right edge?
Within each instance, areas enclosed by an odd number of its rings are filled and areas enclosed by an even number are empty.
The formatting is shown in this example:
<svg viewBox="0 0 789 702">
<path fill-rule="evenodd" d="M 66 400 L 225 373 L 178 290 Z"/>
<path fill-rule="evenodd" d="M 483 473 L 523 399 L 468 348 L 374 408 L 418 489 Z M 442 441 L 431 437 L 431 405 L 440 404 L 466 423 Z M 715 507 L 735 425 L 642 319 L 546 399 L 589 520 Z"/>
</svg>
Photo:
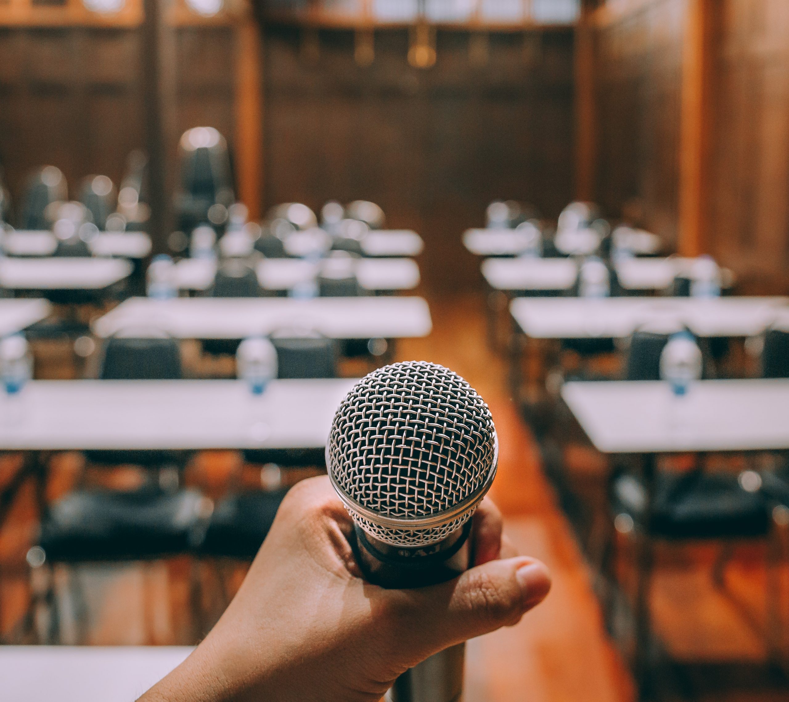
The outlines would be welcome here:
<svg viewBox="0 0 789 702">
<path fill-rule="evenodd" d="M 789 289 L 789 3 L 721 0 L 714 56 L 713 252 L 751 289 Z"/>
</svg>

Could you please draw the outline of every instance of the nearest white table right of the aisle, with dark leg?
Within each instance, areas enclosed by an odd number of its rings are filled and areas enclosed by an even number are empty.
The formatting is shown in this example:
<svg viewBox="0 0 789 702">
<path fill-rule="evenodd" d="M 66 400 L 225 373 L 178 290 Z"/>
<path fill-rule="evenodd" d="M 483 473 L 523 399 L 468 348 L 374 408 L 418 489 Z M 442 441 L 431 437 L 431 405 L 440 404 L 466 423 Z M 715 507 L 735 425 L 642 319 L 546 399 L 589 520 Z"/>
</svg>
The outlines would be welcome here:
<svg viewBox="0 0 789 702">
<path fill-rule="evenodd" d="M 703 380 L 682 398 L 659 381 L 566 383 L 562 397 L 597 450 L 640 457 L 645 524 L 653 513 L 657 455 L 789 449 L 789 380 Z M 637 548 L 634 657 L 645 685 L 653 540 L 642 535 Z"/>
</svg>

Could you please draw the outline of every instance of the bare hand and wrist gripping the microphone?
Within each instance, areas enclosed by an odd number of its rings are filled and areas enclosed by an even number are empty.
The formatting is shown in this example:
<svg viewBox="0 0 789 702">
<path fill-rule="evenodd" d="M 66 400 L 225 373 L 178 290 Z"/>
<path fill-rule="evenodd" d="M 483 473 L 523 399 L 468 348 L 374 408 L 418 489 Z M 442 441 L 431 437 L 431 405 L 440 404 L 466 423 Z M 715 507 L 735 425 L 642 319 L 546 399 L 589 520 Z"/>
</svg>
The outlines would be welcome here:
<svg viewBox="0 0 789 702">
<path fill-rule="evenodd" d="M 140 702 L 377 702 L 409 667 L 517 624 L 548 594 L 548 570 L 514 555 L 492 502 L 473 520 L 473 568 L 385 590 L 362 580 L 328 478 L 297 484 L 222 618 Z"/>
</svg>

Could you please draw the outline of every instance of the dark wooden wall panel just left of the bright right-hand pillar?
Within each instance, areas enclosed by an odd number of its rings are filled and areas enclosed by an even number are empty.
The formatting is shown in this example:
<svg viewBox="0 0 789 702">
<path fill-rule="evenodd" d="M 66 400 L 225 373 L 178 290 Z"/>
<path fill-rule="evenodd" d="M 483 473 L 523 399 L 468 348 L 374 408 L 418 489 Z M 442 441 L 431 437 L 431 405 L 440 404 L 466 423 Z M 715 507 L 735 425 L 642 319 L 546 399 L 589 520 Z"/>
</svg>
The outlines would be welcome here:
<svg viewBox="0 0 789 702">
<path fill-rule="evenodd" d="M 673 244 L 685 0 L 632 4 L 596 32 L 596 196 L 614 217 L 640 200 L 645 226 Z"/>
</svg>

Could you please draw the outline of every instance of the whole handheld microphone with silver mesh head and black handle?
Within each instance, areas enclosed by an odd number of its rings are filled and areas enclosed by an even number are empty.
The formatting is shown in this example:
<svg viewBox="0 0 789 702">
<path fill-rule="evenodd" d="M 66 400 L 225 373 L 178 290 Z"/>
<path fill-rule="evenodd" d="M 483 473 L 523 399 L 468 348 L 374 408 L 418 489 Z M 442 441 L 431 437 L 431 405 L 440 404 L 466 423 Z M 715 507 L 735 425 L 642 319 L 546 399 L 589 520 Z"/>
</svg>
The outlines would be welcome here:
<svg viewBox="0 0 789 702">
<path fill-rule="evenodd" d="M 420 588 L 468 569 L 471 517 L 498 454 L 488 405 L 448 368 L 397 363 L 353 386 L 335 414 L 326 458 L 353 518 L 365 579 Z M 460 700 L 464 650 L 458 644 L 406 671 L 387 700 Z"/>
</svg>

